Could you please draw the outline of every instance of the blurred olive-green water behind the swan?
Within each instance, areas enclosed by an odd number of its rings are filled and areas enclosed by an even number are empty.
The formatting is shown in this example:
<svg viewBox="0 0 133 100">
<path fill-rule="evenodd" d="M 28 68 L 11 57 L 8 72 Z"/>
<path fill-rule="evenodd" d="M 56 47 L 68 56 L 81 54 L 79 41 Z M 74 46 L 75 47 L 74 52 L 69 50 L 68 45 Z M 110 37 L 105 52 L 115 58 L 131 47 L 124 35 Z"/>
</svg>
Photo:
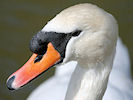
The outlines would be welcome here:
<svg viewBox="0 0 133 100">
<path fill-rule="evenodd" d="M 31 56 L 31 37 L 61 10 L 84 2 L 96 4 L 115 16 L 119 35 L 133 60 L 133 0 L 1 0 L 0 100 L 26 100 L 33 89 L 54 74 L 51 68 L 20 90 L 12 92 L 6 88 L 9 75 Z"/>
</svg>

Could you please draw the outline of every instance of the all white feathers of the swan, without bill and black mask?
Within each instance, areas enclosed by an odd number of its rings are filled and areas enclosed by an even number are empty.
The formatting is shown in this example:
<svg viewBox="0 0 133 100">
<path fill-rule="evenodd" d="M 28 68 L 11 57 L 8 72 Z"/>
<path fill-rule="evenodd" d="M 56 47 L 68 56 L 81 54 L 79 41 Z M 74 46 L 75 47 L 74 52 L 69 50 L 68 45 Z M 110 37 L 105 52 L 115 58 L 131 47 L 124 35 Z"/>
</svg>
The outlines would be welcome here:
<svg viewBox="0 0 133 100">
<path fill-rule="evenodd" d="M 28 100 L 99 100 L 102 97 L 103 100 L 132 100 L 130 60 L 120 39 L 111 71 L 117 39 L 117 24 L 112 15 L 92 4 L 79 4 L 62 11 L 43 28 L 43 31 L 64 33 L 74 30 L 82 33 L 68 43 L 64 64 Z M 67 63 L 71 60 L 78 63 Z"/>
</svg>

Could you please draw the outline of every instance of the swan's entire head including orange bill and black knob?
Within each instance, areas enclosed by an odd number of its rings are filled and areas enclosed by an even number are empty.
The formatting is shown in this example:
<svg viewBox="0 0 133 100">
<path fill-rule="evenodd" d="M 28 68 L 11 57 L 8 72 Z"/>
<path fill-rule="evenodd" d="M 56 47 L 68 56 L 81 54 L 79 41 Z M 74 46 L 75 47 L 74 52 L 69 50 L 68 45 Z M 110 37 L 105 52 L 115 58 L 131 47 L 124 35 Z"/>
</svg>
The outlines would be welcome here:
<svg viewBox="0 0 133 100">
<path fill-rule="evenodd" d="M 103 9 L 88 3 L 67 8 L 33 36 L 33 56 L 8 78 L 7 86 L 18 89 L 51 66 L 71 60 L 82 65 L 106 62 L 117 33 L 116 20 Z"/>
</svg>

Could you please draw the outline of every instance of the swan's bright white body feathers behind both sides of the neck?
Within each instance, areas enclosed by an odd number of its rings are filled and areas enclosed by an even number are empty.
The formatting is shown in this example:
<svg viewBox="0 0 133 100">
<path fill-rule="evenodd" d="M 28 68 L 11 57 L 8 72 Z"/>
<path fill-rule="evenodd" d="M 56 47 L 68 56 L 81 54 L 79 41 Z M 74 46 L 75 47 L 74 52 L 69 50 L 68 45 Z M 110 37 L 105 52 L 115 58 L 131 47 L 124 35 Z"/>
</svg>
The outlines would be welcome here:
<svg viewBox="0 0 133 100">
<path fill-rule="evenodd" d="M 28 100 L 36 100 L 36 98 L 38 100 L 64 100 L 75 67 L 76 62 L 57 67 L 55 75 L 37 87 Z M 131 80 L 128 50 L 118 39 L 113 69 L 103 100 L 132 100 L 133 83 Z"/>
</svg>

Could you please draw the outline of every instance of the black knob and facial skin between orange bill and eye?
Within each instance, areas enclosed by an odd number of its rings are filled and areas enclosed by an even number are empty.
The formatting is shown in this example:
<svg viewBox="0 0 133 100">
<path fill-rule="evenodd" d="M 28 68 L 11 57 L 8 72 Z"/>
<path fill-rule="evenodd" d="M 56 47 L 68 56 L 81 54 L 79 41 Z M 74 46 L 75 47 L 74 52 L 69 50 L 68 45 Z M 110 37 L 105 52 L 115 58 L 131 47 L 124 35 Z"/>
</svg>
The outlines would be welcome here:
<svg viewBox="0 0 133 100">
<path fill-rule="evenodd" d="M 60 53 L 61 61 L 63 61 L 67 43 L 71 37 L 78 36 L 80 33 L 81 30 L 77 30 L 71 33 L 39 31 L 30 41 L 30 50 L 39 55 L 36 57 L 34 62 L 41 60 L 42 55 L 44 55 L 47 51 L 47 45 L 49 42 L 51 42 L 54 48 Z"/>
</svg>

